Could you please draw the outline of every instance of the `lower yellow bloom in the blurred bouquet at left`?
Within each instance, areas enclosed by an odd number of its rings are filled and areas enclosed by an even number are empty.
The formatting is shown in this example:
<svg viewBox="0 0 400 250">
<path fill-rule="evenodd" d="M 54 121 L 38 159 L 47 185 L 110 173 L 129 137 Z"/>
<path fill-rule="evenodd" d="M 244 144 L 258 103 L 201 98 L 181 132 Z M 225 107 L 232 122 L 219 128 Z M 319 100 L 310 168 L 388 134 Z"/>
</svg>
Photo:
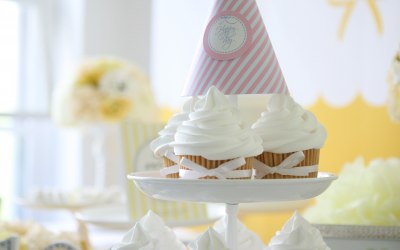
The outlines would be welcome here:
<svg viewBox="0 0 400 250">
<path fill-rule="evenodd" d="M 100 115 L 106 121 L 118 121 L 124 118 L 132 108 L 132 102 L 124 98 L 104 98 Z"/>
</svg>

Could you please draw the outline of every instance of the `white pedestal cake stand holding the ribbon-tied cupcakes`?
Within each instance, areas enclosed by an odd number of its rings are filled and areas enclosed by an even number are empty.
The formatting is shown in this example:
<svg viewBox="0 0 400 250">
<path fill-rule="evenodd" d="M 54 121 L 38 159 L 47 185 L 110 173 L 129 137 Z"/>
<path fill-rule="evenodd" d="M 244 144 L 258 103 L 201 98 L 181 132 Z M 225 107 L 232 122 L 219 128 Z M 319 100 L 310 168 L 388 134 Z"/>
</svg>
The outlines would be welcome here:
<svg viewBox="0 0 400 250">
<path fill-rule="evenodd" d="M 228 248 L 237 250 L 236 217 L 239 203 L 295 201 L 316 197 L 337 176 L 318 173 L 317 178 L 271 180 L 185 180 L 161 177 L 158 172 L 128 175 L 145 194 L 160 200 L 226 203 Z"/>
</svg>

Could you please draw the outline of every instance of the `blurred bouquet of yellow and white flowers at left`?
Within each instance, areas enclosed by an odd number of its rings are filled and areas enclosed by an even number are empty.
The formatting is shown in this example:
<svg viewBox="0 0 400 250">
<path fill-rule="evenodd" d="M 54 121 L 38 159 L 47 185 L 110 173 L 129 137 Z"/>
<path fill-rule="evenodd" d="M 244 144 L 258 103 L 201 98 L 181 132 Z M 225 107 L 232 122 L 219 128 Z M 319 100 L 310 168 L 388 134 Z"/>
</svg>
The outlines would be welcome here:
<svg viewBox="0 0 400 250">
<path fill-rule="evenodd" d="M 53 117 L 60 125 L 149 121 L 158 116 L 146 75 L 119 59 L 90 59 L 77 75 L 55 92 Z"/>
</svg>

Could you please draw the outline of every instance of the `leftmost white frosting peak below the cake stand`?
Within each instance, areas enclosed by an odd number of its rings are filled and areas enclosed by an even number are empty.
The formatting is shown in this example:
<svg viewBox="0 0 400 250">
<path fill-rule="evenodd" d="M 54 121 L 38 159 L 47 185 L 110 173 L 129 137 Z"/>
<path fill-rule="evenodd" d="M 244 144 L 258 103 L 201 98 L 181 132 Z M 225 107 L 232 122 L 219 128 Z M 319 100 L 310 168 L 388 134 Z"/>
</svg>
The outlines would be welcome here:
<svg viewBox="0 0 400 250">
<path fill-rule="evenodd" d="M 111 250 L 186 250 L 163 220 L 149 211 Z"/>
</svg>

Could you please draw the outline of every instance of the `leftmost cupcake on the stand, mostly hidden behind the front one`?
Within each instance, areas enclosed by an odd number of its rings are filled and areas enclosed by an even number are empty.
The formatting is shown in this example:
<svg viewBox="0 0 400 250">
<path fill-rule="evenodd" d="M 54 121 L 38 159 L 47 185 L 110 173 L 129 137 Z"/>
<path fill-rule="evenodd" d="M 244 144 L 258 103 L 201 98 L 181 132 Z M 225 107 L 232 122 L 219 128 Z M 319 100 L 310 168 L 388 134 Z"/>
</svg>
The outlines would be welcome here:
<svg viewBox="0 0 400 250">
<path fill-rule="evenodd" d="M 191 106 L 195 103 L 196 98 L 190 98 L 183 104 L 181 113 L 175 114 L 168 121 L 167 125 L 158 133 L 159 137 L 150 143 L 150 148 L 157 158 L 162 158 L 164 168 L 160 170 L 162 176 L 167 178 L 179 178 L 178 158 L 170 147 L 170 143 L 174 141 L 174 135 L 177 127 L 185 120 L 189 119 Z"/>
</svg>

